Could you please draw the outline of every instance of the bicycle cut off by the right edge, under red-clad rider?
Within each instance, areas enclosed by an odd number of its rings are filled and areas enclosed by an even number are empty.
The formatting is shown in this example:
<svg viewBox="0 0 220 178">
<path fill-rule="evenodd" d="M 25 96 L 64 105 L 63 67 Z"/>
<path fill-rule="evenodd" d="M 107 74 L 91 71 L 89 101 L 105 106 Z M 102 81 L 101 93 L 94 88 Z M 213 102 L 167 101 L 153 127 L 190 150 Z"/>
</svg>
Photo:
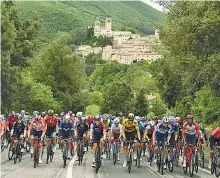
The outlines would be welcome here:
<svg viewBox="0 0 220 178">
<path fill-rule="evenodd" d="M 215 173 L 216 177 L 220 176 L 220 146 L 213 148 L 213 156 L 211 160 L 211 174 Z"/>
</svg>

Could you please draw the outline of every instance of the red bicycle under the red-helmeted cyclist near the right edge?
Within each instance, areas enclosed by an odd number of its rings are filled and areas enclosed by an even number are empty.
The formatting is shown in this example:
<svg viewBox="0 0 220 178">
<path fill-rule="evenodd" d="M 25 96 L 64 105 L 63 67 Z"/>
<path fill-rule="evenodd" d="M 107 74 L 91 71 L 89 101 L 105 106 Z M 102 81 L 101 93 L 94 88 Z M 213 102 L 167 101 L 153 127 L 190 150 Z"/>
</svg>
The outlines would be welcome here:
<svg viewBox="0 0 220 178">
<path fill-rule="evenodd" d="M 183 172 L 186 174 L 187 169 L 189 168 L 190 177 L 192 177 L 195 168 L 195 146 L 192 144 L 187 144 L 186 150 L 186 167 L 183 167 Z"/>
</svg>

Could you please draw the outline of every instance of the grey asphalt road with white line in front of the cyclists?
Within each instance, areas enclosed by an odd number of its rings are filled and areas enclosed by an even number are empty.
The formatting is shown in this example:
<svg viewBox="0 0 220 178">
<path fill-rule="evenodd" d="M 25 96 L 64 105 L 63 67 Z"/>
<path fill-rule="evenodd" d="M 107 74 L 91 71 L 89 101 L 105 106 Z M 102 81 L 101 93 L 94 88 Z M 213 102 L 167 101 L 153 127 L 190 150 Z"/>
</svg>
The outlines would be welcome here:
<svg viewBox="0 0 220 178">
<path fill-rule="evenodd" d="M 114 178 L 114 177 L 126 177 L 126 178 L 189 178 L 188 174 L 183 173 L 181 166 L 175 167 L 174 172 L 170 173 L 165 170 L 164 175 L 160 175 L 156 170 L 156 165 L 149 166 L 146 162 L 146 158 L 141 161 L 141 168 L 132 166 L 131 173 L 128 173 L 127 168 L 122 166 L 123 154 L 121 153 L 121 161 L 113 165 L 112 160 L 103 160 L 102 166 L 98 174 L 94 172 L 91 167 L 92 154 L 91 151 L 87 152 L 84 156 L 83 164 L 78 165 L 75 161 L 76 156 L 72 160 L 68 161 L 66 168 L 63 168 L 63 160 L 60 156 L 60 150 L 57 149 L 53 162 L 45 163 L 45 156 L 43 157 L 43 163 L 37 168 L 33 166 L 33 160 L 30 157 L 30 153 L 24 153 L 21 162 L 14 164 L 13 161 L 9 161 L 7 157 L 8 149 L 5 149 L 1 153 L 1 177 L 2 178 Z M 199 170 L 197 174 L 194 174 L 194 178 L 214 178 L 209 171 Z"/>
</svg>

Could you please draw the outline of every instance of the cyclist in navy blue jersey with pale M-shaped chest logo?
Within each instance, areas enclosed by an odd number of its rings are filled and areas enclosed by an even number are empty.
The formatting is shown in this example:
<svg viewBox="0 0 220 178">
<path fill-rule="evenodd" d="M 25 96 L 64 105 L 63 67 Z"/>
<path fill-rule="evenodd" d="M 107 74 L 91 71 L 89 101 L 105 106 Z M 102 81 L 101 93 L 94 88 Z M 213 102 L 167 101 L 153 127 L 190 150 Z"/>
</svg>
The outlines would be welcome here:
<svg viewBox="0 0 220 178">
<path fill-rule="evenodd" d="M 65 115 L 64 120 L 61 121 L 60 124 L 60 137 L 61 140 L 61 152 L 63 156 L 63 139 L 69 139 L 68 140 L 68 159 L 71 158 L 70 149 L 71 149 L 71 137 L 72 137 L 72 130 L 73 130 L 73 123 L 70 121 L 70 116 Z"/>
</svg>

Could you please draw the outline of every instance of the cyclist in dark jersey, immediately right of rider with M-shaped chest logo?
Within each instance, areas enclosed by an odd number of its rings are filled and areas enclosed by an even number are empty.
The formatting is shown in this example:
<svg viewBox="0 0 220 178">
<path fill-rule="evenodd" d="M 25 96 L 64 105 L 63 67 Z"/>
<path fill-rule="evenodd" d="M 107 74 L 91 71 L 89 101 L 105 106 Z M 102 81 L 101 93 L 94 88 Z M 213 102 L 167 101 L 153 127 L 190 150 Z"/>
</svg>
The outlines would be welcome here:
<svg viewBox="0 0 220 178">
<path fill-rule="evenodd" d="M 84 152 L 86 152 L 86 143 L 88 140 L 88 131 L 89 131 L 89 126 L 88 124 L 85 122 L 85 117 L 78 117 L 79 121 L 76 123 L 75 127 L 74 127 L 74 133 L 75 133 L 75 137 L 77 139 L 77 147 L 76 147 L 76 152 L 78 153 L 79 150 L 79 144 L 80 141 L 83 140 L 84 143 Z M 78 156 L 77 155 L 77 159 L 78 160 Z"/>
</svg>

